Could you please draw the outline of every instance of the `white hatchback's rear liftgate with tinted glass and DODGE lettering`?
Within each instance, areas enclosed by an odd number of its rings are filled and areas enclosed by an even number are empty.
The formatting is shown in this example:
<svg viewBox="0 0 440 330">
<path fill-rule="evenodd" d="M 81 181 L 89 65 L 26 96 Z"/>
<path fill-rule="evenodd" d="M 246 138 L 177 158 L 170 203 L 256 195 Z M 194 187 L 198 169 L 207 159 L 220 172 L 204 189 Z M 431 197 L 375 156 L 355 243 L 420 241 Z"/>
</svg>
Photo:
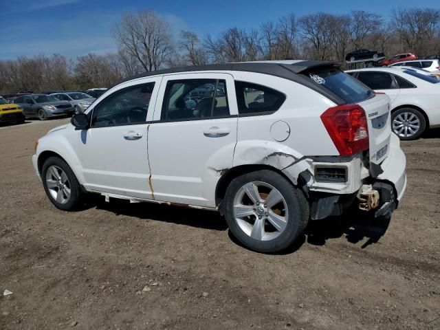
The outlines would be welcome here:
<svg viewBox="0 0 440 330">
<path fill-rule="evenodd" d="M 391 137 L 390 99 L 385 94 L 375 94 L 337 67 L 322 66 L 301 72 L 330 93 L 337 104 L 359 104 L 366 114 L 369 128 L 370 162 L 380 164 L 388 155 Z"/>
</svg>

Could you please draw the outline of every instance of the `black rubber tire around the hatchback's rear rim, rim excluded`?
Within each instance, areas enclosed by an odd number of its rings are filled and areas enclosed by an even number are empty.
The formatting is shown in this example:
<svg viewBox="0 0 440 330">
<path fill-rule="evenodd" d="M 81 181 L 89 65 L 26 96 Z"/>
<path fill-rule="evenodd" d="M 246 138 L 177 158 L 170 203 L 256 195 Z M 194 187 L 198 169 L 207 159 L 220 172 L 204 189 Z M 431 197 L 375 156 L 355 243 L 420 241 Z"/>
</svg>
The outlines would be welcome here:
<svg viewBox="0 0 440 330">
<path fill-rule="evenodd" d="M 263 241 L 253 239 L 243 232 L 234 217 L 234 198 L 243 185 L 252 181 L 262 181 L 276 188 L 287 204 L 287 225 L 274 239 Z M 245 247 L 264 253 L 282 252 L 303 234 L 309 221 L 309 203 L 303 192 L 289 180 L 272 170 L 257 170 L 233 179 L 225 192 L 225 219 L 232 235 Z"/>
</svg>

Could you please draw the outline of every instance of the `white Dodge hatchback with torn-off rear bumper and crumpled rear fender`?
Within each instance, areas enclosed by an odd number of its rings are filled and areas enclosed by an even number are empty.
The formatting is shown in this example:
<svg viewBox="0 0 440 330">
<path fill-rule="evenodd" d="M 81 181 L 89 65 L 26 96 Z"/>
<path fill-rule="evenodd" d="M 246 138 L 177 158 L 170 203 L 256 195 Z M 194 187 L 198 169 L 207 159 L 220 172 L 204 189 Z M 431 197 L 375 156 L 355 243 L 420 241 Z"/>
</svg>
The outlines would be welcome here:
<svg viewBox="0 0 440 330">
<path fill-rule="evenodd" d="M 388 96 L 322 61 L 135 76 L 41 137 L 32 161 L 62 210 L 90 192 L 219 210 L 260 252 L 349 206 L 389 217 L 406 187 Z"/>
</svg>

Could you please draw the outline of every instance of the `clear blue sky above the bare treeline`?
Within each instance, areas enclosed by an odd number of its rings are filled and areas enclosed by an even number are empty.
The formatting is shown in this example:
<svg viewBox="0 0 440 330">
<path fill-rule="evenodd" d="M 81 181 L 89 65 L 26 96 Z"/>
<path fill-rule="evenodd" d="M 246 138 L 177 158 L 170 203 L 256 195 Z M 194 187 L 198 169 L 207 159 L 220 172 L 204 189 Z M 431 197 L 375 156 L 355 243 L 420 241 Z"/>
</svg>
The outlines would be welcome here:
<svg viewBox="0 0 440 330">
<path fill-rule="evenodd" d="M 438 0 L 0 0 L 0 59 L 63 54 L 69 58 L 89 52 L 115 52 L 112 29 L 124 12 L 155 10 L 174 32 L 192 30 L 205 36 L 237 26 L 256 28 L 289 13 L 342 14 L 367 10 L 388 19 L 393 8 L 439 8 Z"/>
</svg>

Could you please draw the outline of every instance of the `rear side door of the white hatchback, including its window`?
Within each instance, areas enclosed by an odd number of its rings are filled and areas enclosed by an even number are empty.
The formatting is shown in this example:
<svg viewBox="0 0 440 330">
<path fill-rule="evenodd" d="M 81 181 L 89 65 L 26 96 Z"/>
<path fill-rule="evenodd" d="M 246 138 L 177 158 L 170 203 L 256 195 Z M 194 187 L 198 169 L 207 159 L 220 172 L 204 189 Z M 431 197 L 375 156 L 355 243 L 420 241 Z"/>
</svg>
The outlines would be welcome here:
<svg viewBox="0 0 440 330">
<path fill-rule="evenodd" d="M 232 167 L 237 113 L 229 74 L 164 76 L 148 130 L 155 199 L 215 206 L 215 184 Z"/>
</svg>

